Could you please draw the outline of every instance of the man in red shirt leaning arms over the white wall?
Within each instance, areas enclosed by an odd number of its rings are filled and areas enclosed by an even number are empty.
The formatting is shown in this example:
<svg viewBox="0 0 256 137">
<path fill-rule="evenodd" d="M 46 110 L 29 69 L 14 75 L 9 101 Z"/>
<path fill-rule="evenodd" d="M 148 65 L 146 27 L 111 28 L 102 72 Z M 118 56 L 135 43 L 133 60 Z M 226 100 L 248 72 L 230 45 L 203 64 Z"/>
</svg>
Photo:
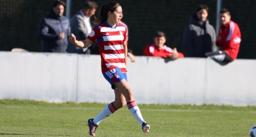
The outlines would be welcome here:
<svg viewBox="0 0 256 137">
<path fill-rule="evenodd" d="M 166 41 L 166 36 L 164 32 L 157 31 L 157 34 L 154 38 L 153 44 L 148 44 L 144 50 L 143 55 L 146 56 L 154 56 L 154 57 L 160 57 L 160 58 L 171 58 L 173 60 L 177 58 L 184 58 L 184 55 L 182 53 L 177 52 L 176 50 L 173 50 L 166 45 L 164 45 Z"/>
</svg>

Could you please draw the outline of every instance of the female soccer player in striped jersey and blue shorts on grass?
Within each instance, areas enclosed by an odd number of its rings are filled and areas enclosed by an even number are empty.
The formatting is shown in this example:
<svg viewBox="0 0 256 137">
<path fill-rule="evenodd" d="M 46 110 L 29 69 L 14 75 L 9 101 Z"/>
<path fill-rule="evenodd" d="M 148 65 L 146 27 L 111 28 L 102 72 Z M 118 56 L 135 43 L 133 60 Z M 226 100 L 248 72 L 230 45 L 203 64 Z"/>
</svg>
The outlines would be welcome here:
<svg viewBox="0 0 256 137">
<path fill-rule="evenodd" d="M 114 89 L 115 100 L 109 103 L 95 118 L 87 120 L 89 135 L 95 136 L 98 124 L 112 113 L 122 108 L 127 101 L 129 111 L 142 126 L 144 134 L 150 126 L 144 121 L 135 103 L 132 90 L 127 83 L 127 28 L 119 24 L 122 17 L 122 7 L 117 2 L 102 5 L 99 17 L 94 21 L 94 28 L 84 41 L 77 41 L 74 34 L 69 41 L 79 48 L 87 48 L 97 39 L 101 56 L 102 73 Z"/>
</svg>

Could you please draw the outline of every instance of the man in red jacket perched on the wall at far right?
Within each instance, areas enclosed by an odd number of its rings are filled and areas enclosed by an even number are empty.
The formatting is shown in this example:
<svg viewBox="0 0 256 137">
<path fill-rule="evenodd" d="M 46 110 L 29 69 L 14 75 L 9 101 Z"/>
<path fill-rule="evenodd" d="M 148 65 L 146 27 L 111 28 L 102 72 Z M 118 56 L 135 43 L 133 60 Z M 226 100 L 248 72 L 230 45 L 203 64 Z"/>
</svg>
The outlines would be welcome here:
<svg viewBox="0 0 256 137">
<path fill-rule="evenodd" d="M 228 10 L 221 10 L 219 19 L 222 25 L 219 27 L 216 46 L 220 46 L 221 50 L 217 52 L 209 52 L 205 55 L 214 60 L 231 62 L 237 57 L 241 42 L 241 32 L 238 25 L 231 21 L 231 16 Z"/>
</svg>

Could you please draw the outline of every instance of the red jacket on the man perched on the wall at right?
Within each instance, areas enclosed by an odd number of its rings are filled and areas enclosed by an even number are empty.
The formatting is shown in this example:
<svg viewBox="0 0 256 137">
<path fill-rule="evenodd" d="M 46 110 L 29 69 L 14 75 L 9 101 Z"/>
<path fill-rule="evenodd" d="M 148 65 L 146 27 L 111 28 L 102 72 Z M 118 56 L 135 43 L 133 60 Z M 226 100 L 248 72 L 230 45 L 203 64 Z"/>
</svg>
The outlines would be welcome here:
<svg viewBox="0 0 256 137">
<path fill-rule="evenodd" d="M 239 52 L 240 42 L 241 32 L 235 22 L 230 21 L 219 27 L 216 45 L 220 46 L 221 50 L 226 51 L 233 60 L 236 59 Z"/>
</svg>

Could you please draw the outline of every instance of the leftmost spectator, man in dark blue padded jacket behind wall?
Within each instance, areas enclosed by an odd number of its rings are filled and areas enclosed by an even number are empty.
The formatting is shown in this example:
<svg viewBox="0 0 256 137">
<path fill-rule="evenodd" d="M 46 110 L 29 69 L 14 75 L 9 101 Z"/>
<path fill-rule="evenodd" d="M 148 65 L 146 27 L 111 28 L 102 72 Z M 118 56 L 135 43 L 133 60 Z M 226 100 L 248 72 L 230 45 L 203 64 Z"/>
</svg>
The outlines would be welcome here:
<svg viewBox="0 0 256 137">
<path fill-rule="evenodd" d="M 55 0 L 39 26 L 42 38 L 42 52 L 66 53 L 70 36 L 70 22 L 62 16 L 66 4 L 62 0 Z"/>
</svg>

